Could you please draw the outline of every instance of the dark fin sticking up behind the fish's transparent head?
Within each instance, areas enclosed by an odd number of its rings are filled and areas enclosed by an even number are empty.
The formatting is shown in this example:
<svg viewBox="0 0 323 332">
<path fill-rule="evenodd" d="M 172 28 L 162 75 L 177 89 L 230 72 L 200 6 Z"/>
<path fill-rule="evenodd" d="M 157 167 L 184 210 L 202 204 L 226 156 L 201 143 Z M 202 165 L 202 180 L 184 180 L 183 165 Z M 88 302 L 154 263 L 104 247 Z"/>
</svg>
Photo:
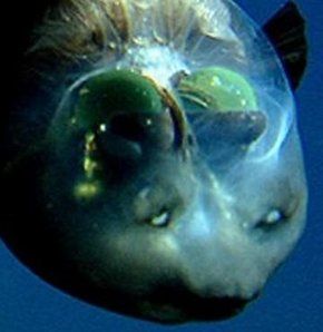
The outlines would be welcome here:
<svg viewBox="0 0 323 332">
<path fill-rule="evenodd" d="M 263 31 L 281 57 L 294 91 L 302 80 L 307 64 L 305 29 L 305 20 L 293 1 L 288 1 L 263 26 Z"/>
</svg>

